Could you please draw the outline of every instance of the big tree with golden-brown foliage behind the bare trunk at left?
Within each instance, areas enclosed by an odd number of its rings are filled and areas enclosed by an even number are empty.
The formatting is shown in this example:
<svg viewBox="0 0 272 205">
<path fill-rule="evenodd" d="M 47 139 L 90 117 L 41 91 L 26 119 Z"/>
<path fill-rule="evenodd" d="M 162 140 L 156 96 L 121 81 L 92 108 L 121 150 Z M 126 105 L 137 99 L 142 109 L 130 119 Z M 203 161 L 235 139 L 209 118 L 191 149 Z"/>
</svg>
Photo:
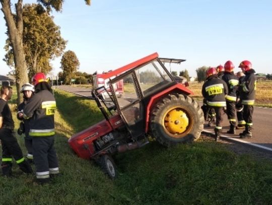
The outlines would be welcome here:
<svg viewBox="0 0 272 205">
<path fill-rule="evenodd" d="M 25 5 L 23 7 L 23 45 L 28 67 L 28 77 L 34 73 L 47 74 L 52 70 L 50 60 L 62 54 L 66 41 L 61 38 L 60 28 L 53 22 L 53 17 L 41 5 Z M 13 50 L 9 39 L 5 46 L 5 61 L 13 67 Z M 12 64 L 11 64 L 12 63 Z"/>
</svg>

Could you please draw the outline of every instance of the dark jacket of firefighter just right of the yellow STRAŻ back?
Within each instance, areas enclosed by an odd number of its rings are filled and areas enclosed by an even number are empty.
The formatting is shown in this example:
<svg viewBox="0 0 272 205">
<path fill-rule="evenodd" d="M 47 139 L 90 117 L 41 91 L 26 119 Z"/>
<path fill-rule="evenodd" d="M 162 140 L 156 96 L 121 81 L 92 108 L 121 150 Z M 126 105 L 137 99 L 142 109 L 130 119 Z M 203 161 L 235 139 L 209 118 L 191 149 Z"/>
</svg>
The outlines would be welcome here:
<svg viewBox="0 0 272 205">
<path fill-rule="evenodd" d="M 233 72 L 225 72 L 222 80 L 226 82 L 229 90 L 228 95 L 226 95 L 226 100 L 236 102 L 236 92 L 239 85 L 238 77 L 235 76 Z"/>
</svg>

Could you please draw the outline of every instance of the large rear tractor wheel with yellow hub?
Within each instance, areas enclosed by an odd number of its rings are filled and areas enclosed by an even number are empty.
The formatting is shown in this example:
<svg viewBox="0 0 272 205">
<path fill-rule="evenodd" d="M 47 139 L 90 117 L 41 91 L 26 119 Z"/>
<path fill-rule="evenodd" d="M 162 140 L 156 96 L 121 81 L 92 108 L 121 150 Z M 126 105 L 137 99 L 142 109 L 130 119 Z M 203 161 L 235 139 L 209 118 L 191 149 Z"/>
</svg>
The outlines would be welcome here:
<svg viewBox="0 0 272 205">
<path fill-rule="evenodd" d="M 189 96 L 169 94 L 151 113 L 151 134 L 165 146 L 197 140 L 203 129 L 202 109 Z"/>
</svg>

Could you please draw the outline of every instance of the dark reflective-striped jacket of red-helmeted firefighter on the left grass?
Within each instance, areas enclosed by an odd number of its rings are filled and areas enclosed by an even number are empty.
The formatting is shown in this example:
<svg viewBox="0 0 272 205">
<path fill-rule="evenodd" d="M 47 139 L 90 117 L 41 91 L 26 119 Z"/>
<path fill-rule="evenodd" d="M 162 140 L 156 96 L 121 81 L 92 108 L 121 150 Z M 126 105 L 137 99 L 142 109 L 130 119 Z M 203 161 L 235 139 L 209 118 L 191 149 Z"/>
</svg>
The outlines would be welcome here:
<svg viewBox="0 0 272 205">
<path fill-rule="evenodd" d="M 30 136 L 52 136 L 54 130 L 54 113 L 56 101 L 48 90 L 41 90 L 27 102 L 24 118 L 29 120 Z"/>
</svg>

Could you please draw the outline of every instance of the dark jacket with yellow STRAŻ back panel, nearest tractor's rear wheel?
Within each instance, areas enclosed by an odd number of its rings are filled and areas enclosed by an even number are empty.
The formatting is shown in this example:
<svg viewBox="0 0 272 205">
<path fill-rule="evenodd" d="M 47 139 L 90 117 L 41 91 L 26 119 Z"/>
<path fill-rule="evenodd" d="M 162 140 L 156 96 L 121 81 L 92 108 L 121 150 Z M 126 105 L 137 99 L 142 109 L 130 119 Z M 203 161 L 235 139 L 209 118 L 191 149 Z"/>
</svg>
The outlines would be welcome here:
<svg viewBox="0 0 272 205">
<path fill-rule="evenodd" d="M 225 95 L 228 94 L 228 86 L 225 81 L 210 76 L 202 86 L 202 95 L 209 106 L 226 107 Z"/>
</svg>

